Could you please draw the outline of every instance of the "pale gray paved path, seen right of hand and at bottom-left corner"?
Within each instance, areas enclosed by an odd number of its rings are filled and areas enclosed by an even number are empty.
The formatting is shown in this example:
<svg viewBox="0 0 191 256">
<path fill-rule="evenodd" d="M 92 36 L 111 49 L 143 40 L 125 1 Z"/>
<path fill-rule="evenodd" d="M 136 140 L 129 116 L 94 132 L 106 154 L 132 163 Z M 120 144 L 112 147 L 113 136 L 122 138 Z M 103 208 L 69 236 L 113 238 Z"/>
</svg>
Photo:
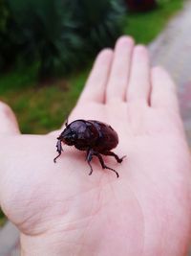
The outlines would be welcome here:
<svg viewBox="0 0 191 256">
<path fill-rule="evenodd" d="M 191 147 L 191 2 L 149 45 L 152 64 L 164 66 L 178 84 L 180 111 Z M 0 230 L 0 256 L 19 255 L 18 230 L 8 222 Z M 190 254 L 191 255 L 191 254 Z"/>
</svg>

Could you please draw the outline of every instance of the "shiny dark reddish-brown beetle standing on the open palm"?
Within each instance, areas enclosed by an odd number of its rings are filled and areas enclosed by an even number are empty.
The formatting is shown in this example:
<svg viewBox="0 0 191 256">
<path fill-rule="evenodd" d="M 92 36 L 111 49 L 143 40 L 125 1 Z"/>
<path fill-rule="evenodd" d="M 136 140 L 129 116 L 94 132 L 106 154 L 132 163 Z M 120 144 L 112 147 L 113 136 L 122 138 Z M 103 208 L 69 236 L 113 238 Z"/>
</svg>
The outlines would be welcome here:
<svg viewBox="0 0 191 256">
<path fill-rule="evenodd" d="M 95 155 L 103 169 L 109 169 L 119 176 L 117 171 L 111 167 L 108 167 L 102 158 L 103 155 L 114 156 L 118 163 L 121 163 L 125 156 L 121 158 L 112 149 L 117 147 L 118 136 L 116 130 L 110 125 L 96 121 L 96 120 L 83 120 L 78 119 L 68 124 L 65 124 L 66 128 L 57 137 L 57 152 L 58 155 L 53 159 L 54 163 L 56 159 L 61 155 L 62 143 L 68 146 L 74 146 L 79 151 L 86 151 L 86 161 L 90 166 L 90 173 L 93 173 L 93 167 L 91 161 Z"/>
</svg>

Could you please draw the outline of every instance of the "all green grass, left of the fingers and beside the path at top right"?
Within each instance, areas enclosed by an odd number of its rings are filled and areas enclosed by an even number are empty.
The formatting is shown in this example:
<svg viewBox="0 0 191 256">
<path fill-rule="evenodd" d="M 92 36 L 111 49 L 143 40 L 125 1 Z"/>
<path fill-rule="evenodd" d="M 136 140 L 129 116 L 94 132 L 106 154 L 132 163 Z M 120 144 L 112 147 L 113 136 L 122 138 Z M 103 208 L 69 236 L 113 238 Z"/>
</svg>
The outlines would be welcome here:
<svg viewBox="0 0 191 256">
<path fill-rule="evenodd" d="M 164 28 L 168 19 L 182 7 L 182 0 L 160 0 L 153 12 L 129 14 L 124 34 L 133 35 L 138 43 L 149 43 Z M 64 122 L 83 88 L 90 68 L 74 74 L 67 81 L 47 86 L 37 82 L 36 67 L 17 69 L 0 76 L 0 100 L 11 105 L 21 131 L 46 133 Z M 5 221 L 0 211 L 0 225 Z"/>
</svg>

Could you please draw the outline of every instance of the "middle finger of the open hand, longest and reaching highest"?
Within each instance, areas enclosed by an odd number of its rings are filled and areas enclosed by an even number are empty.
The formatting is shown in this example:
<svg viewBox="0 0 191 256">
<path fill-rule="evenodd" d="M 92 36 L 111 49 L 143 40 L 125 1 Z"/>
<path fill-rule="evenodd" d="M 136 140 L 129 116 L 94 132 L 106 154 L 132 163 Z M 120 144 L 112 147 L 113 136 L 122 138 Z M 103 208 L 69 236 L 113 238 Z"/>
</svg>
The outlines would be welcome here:
<svg viewBox="0 0 191 256">
<path fill-rule="evenodd" d="M 134 40 L 122 36 L 117 40 L 110 79 L 106 88 L 106 102 L 125 100 L 126 86 L 129 80 Z"/>
</svg>

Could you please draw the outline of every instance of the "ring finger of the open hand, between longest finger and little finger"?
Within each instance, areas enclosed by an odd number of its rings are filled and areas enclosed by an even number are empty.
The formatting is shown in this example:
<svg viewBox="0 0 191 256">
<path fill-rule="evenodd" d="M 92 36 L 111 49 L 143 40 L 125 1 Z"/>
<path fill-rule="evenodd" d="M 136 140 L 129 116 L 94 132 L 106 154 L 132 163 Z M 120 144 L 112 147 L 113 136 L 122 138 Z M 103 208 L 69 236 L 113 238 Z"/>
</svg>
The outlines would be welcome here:
<svg viewBox="0 0 191 256">
<path fill-rule="evenodd" d="M 150 93 L 150 64 L 146 47 L 138 45 L 134 48 L 132 68 L 127 87 L 128 102 L 148 102 Z"/>
</svg>

